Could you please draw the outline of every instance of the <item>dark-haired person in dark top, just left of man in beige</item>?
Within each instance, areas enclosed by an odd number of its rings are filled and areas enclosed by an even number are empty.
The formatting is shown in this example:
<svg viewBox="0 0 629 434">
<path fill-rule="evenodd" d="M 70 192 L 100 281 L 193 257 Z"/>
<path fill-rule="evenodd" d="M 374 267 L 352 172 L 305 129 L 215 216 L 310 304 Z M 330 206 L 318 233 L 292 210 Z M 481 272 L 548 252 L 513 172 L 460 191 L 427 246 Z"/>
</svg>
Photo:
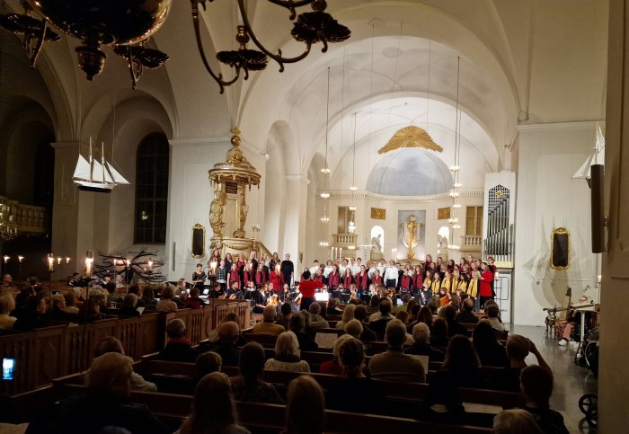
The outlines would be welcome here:
<svg viewBox="0 0 629 434">
<path fill-rule="evenodd" d="M 368 414 L 383 412 L 385 388 L 363 374 L 365 347 L 362 342 L 356 338 L 342 341 L 339 359 L 343 368 L 343 379 L 332 383 L 328 388 L 328 408 Z"/>
</svg>

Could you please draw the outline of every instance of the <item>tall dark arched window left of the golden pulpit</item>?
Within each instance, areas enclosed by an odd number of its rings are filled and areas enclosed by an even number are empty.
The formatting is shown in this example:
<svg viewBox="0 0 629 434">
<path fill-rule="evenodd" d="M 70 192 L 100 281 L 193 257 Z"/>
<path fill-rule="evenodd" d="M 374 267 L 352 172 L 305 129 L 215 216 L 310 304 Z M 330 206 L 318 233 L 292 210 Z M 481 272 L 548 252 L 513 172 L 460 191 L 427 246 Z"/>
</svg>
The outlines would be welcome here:
<svg viewBox="0 0 629 434">
<path fill-rule="evenodd" d="M 149 134 L 137 146 L 135 244 L 165 244 L 168 208 L 168 139 Z"/>
</svg>

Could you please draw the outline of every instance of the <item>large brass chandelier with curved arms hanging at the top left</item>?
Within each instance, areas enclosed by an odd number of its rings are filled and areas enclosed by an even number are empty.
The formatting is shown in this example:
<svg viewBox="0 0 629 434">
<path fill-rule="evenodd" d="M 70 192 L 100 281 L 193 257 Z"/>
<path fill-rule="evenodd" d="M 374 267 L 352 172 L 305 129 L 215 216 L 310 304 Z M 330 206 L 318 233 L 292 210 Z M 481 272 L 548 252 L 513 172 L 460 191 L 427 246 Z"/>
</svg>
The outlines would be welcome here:
<svg viewBox="0 0 629 434">
<path fill-rule="evenodd" d="M 289 20 L 294 22 L 291 36 L 306 44 L 301 54 L 285 58 L 281 49 L 273 53 L 262 45 L 249 22 L 246 0 L 236 0 L 243 21 L 243 24 L 237 26 L 235 37 L 239 48 L 217 53 L 219 62 L 234 68 L 234 76 L 226 79 L 209 66 L 201 40 L 199 9 L 205 11 L 206 4 L 212 1 L 190 0 L 190 4 L 201 60 L 209 75 L 217 82 L 220 93 L 225 92 L 225 86 L 235 84 L 241 73 L 246 80 L 250 71 L 266 68 L 268 58 L 275 60 L 279 64 L 279 72 L 282 72 L 284 64 L 306 58 L 313 44 L 323 43 L 322 52 L 325 52 L 328 43 L 350 38 L 350 30 L 325 12 L 325 0 L 266 0 L 288 9 Z M 21 4 L 24 13 L 0 15 L 0 27 L 22 35 L 22 45 L 31 58 L 31 66 L 34 66 L 44 42 L 60 39 L 58 33 L 49 28 L 50 25 L 81 40 L 82 45 L 75 50 L 78 64 L 88 80 L 93 80 L 95 75 L 102 72 L 107 58 L 102 51 L 103 45 L 111 46 L 115 54 L 127 59 L 134 89 L 145 67 L 156 68 L 168 60 L 168 55 L 157 49 L 146 48 L 145 44 L 166 21 L 173 0 L 21 0 Z M 313 11 L 297 15 L 297 8 L 308 4 Z M 248 49 L 249 41 L 257 49 Z"/>
</svg>

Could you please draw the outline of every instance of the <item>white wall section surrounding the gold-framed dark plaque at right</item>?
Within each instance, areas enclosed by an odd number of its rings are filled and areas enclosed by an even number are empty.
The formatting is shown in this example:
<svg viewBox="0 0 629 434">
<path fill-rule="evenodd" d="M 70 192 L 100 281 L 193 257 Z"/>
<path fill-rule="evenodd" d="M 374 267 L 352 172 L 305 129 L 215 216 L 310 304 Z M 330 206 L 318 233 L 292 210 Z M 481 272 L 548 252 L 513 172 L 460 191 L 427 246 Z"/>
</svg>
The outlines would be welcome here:
<svg viewBox="0 0 629 434">
<path fill-rule="evenodd" d="M 544 324 L 544 307 L 562 305 L 594 288 L 595 257 L 589 233 L 589 188 L 572 180 L 595 142 L 595 122 L 526 125 L 518 128 L 518 198 L 513 321 Z M 568 270 L 549 266 L 551 233 L 571 232 Z"/>
</svg>

